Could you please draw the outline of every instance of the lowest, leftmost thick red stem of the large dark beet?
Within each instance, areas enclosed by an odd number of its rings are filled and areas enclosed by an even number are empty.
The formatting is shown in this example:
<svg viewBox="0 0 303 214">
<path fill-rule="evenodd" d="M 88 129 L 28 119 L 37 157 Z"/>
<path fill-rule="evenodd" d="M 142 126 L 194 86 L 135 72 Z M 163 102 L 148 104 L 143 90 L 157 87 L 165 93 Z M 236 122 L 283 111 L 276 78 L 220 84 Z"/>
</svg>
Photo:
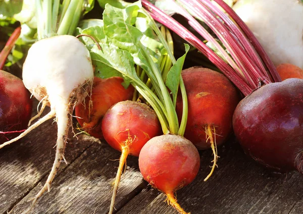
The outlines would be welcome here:
<svg viewBox="0 0 303 214">
<path fill-rule="evenodd" d="M 246 96 L 252 92 L 252 89 L 242 79 L 242 76 L 235 72 L 229 65 L 227 65 L 216 53 L 210 49 L 206 44 L 200 41 L 196 36 L 189 32 L 184 26 L 178 23 L 176 20 L 166 15 L 164 12 L 159 10 L 153 4 L 147 0 L 142 0 L 142 6 L 150 12 L 150 15 L 156 21 L 162 23 L 181 38 L 196 47 L 201 53 L 203 53 L 212 63 L 214 63 Z"/>
</svg>

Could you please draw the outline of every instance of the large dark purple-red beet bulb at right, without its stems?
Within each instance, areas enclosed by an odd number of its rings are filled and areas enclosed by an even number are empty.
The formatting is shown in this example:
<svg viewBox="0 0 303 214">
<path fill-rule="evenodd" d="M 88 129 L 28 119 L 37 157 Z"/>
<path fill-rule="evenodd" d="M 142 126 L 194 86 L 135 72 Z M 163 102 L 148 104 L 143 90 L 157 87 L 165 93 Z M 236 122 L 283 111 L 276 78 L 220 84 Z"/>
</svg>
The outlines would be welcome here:
<svg viewBox="0 0 303 214">
<path fill-rule="evenodd" d="M 244 151 L 280 171 L 303 172 L 303 80 L 264 85 L 238 104 L 234 133 Z"/>
</svg>

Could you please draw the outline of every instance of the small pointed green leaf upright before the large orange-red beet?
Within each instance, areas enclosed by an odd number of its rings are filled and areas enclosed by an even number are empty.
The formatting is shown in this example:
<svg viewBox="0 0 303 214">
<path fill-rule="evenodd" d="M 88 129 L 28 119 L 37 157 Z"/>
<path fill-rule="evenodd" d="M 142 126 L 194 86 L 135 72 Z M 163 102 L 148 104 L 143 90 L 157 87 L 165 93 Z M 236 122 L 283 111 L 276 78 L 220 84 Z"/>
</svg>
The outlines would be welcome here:
<svg viewBox="0 0 303 214">
<path fill-rule="evenodd" d="M 166 86 L 171 90 L 173 94 L 174 105 L 176 104 L 177 100 L 177 93 L 179 88 L 179 81 L 181 76 L 182 67 L 185 61 L 186 54 L 189 50 L 189 45 L 185 45 L 185 53 L 182 57 L 180 57 L 177 62 L 171 67 L 167 76 L 166 76 Z"/>
</svg>

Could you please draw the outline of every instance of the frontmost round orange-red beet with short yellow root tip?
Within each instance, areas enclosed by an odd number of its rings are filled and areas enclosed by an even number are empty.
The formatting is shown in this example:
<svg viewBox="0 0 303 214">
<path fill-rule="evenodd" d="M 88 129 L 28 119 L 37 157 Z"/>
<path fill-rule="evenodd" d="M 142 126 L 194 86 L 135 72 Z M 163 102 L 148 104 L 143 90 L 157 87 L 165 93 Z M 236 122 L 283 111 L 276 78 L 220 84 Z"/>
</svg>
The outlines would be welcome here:
<svg viewBox="0 0 303 214">
<path fill-rule="evenodd" d="M 196 177 L 200 157 L 194 145 L 179 135 L 161 135 L 150 139 L 141 149 L 139 168 L 144 180 L 164 192 L 180 213 L 175 192 Z"/>
</svg>

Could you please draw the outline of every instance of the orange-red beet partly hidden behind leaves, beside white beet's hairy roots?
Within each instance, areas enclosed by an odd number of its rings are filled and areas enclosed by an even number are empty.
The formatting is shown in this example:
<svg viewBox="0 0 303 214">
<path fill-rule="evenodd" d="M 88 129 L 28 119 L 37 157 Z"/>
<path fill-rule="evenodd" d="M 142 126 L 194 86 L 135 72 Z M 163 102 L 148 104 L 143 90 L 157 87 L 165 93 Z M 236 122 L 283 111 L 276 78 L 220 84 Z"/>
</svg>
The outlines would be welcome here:
<svg viewBox="0 0 303 214">
<path fill-rule="evenodd" d="M 101 79 L 94 77 L 91 97 L 86 97 L 85 105 L 77 105 L 75 115 L 82 130 L 93 137 L 104 139 L 101 129 L 102 119 L 112 105 L 132 98 L 134 88 L 125 89 L 121 77 Z"/>
</svg>

